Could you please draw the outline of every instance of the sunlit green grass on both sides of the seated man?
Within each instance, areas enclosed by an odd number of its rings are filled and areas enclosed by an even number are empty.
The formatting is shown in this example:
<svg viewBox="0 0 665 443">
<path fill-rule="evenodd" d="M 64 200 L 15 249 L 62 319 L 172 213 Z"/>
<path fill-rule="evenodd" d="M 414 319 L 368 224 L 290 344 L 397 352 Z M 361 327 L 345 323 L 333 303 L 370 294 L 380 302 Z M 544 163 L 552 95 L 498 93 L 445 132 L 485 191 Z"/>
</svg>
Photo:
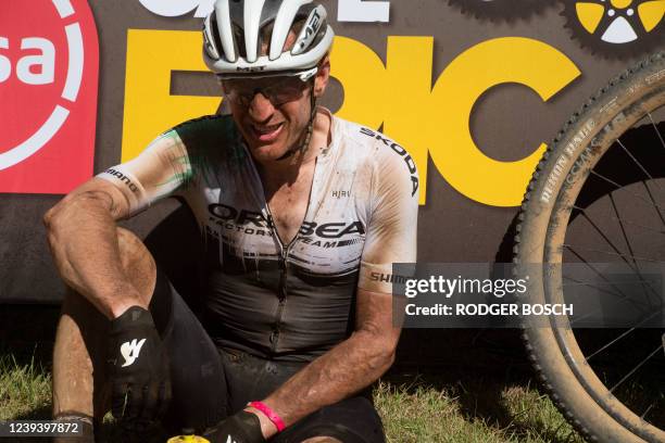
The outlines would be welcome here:
<svg viewBox="0 0 665 443">
<path fill-rule="evenodd" d="M 374 392 L 388 442 L 581 442 L 528 379 L 392 375 Z M 47 419 L 51 376 L 34 357 L 0 355 L 0 420 Z M 117 430 L 105 426 L 105 441 Z"/>
</svg>

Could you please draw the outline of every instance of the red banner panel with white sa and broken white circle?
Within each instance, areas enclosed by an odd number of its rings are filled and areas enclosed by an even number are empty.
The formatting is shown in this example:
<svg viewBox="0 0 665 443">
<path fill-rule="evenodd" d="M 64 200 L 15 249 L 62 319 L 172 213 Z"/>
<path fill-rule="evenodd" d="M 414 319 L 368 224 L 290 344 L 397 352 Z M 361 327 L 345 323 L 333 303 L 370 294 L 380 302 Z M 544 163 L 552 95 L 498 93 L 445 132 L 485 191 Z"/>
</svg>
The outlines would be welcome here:
<svg viewBox="0 0 665 443">
<path fill-rule="evenodd" d="M 66 193 L 92 175 L 98 65 L 85 0 L 3 2 L 0 192 Z"/>
</svg>

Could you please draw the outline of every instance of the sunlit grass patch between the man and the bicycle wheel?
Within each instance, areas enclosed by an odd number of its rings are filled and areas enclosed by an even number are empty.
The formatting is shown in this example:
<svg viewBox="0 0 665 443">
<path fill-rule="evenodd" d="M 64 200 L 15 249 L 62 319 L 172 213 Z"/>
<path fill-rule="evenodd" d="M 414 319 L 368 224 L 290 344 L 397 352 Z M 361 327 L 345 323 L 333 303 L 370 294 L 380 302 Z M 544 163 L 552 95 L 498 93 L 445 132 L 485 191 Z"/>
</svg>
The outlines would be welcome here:
<svg viewBox="0 0 665 443">
<path fill-rule="evenodd" d="M 584 442 L 528 381 L 400 377 L 381 381 L 374 395 L 389 442 Z"/>
</svg>

